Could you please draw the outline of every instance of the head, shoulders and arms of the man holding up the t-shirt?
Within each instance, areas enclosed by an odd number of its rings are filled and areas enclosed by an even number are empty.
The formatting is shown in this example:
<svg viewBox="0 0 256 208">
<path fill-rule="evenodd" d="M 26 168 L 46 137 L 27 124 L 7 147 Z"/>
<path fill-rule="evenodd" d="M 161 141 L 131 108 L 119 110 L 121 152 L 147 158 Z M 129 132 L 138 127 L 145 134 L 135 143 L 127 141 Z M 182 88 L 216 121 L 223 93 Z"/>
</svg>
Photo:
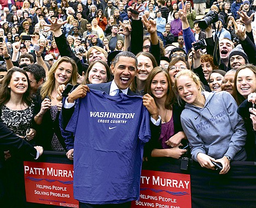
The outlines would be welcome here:
<svg viewBox="0 0 256 208">
<path fill-rule="evenodd" d="M 110 69 L 114 75 L 114 80 L 112 82 L 108 83 L 102 83 L 102 84 L 88 84 L 83 85 L 80 84 L 77 88 L 75 88 L 71 94 L 67 97 L 66 102 L 64 103 L 62 107 L 62 125 L 63 127 L 66 127 L 68 124 L 68 121 L 70 120 L 72 113 L 74 111 L 74 102 L 78 98 L 85 97 L 88 91 L 91 89 L 97 89 L 104 91 L 105 93 L 109 95 L 116 95 L 118 93 L 118 90 L 121 90 L 121 93 L 124 93 L 126 95 L 136 95 L 131 91 L 129 88 L 132 80 L 135 78 L 136 75 L 136 69 L 137 69 L 137 59 L 131 52 L 121 52 L 119 53 L 115 59 L 113 64 L 110 66 Z M 144 97 L 143 99 L 147 99 L 147 97 Z M 69 104 L 68 104 L 69 103 Z M 152 133 L 156 132 L 157 136 L 159 134 L 160 136 L 160 118 L 158 115 L 158 112 L 151 115 L 152 122 L 155 125 L 152 125 L 152 127 L 156 127 Z"/>
</svg>

